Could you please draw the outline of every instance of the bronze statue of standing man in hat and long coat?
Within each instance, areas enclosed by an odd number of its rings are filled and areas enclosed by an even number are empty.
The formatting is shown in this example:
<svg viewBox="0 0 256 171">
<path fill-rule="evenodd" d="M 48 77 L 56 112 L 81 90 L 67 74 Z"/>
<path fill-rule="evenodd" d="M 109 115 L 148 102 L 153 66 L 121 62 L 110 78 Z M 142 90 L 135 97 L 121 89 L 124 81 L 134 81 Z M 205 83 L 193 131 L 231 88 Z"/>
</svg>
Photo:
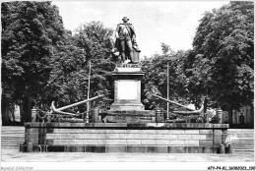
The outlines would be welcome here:
<svg viewBox="0 0 256 171">
<path fill-rule="evenodd" d="M 123 23 L 118 24 L 115 30 L 115 47 L 121 53 L 122 63 L 137 64 L 139 62 L 139 47 L 136 42 L 136 33 L 129 19 L 124 17 Z"/>
</svg>

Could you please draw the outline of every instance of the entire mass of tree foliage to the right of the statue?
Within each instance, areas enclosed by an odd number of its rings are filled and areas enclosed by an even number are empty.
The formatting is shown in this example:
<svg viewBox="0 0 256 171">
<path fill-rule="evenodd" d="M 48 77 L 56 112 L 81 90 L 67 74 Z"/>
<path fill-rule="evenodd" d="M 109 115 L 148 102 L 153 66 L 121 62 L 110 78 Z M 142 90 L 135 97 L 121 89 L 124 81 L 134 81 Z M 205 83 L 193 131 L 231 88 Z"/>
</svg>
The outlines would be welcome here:
<svg viewBox="0 0 256 171">
<path fill-rule="evenodd" d="M 230 2 L 206 12 L 193 39 L 193 49 L 186 52 L 173 52 L 161 43 L 162 55 L 142 62 L 147 73 L 145 92 L 165 96 L 169 62 L 170 99 L 184 98 L 197 104 L 205 97 L 209 105 L 229 110 L 229 114 L 242 105 L 252 105 L 253 11 L 253 2 Z"/>
</svg>

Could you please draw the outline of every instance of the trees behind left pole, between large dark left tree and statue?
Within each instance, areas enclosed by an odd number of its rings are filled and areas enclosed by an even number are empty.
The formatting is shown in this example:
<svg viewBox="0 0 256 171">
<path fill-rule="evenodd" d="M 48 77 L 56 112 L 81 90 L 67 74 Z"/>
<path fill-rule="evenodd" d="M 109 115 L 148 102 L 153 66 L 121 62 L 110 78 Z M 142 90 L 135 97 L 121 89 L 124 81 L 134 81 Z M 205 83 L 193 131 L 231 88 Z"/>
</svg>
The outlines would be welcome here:
<svg viewBox="0 0 256 171">
<path fill-rule="evenodd" d="M 113 30 L 100 22 L 91 22 L 77 28 L 74 35 L 66 32 L 58 53 L 52 58 L 52 72 L 48 82 L 51 99 L 67 105 L 88 97 L 89 61 L 92 63 L 90 98 L 100 93 L 109 99 L 111 89 Z M 79 106 L 82 112 L 85 106 Z"/>
</svg>

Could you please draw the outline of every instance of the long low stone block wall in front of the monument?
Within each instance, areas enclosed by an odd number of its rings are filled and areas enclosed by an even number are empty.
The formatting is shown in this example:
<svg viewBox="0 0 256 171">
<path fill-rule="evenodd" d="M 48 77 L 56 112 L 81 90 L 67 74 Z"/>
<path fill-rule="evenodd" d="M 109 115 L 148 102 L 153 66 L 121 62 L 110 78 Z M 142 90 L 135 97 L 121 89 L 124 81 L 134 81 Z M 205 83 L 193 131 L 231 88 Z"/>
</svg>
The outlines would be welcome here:
<svg viewBox="0 0 256 171">
<path fill-rule="evenodd" d="M 27 151 L 55 146 L 66 151 L 90 148 L 92 152 L 95 146 L 104 148 L 104 152 L 220 152 L 222 144 L 226 145 L 227 128 L 224 124 L 199 123 L 27 123 L 24 147 Z M 29 144 L 33 149 L 28 148 Z"/>
</svg>

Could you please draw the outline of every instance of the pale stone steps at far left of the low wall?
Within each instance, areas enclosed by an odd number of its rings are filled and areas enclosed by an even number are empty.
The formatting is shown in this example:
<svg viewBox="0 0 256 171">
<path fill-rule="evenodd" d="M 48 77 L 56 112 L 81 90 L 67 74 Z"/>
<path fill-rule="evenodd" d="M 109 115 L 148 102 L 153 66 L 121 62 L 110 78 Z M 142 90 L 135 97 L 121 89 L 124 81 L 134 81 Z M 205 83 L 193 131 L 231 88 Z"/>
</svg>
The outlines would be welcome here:
<svg viewBox="0 0 256 171">
<path fill-rule="evenodd" d="M 19 148 L 25 142 L 24 126 L 2 126 L 1 146 L 2 148 Z"/>
</svg>

